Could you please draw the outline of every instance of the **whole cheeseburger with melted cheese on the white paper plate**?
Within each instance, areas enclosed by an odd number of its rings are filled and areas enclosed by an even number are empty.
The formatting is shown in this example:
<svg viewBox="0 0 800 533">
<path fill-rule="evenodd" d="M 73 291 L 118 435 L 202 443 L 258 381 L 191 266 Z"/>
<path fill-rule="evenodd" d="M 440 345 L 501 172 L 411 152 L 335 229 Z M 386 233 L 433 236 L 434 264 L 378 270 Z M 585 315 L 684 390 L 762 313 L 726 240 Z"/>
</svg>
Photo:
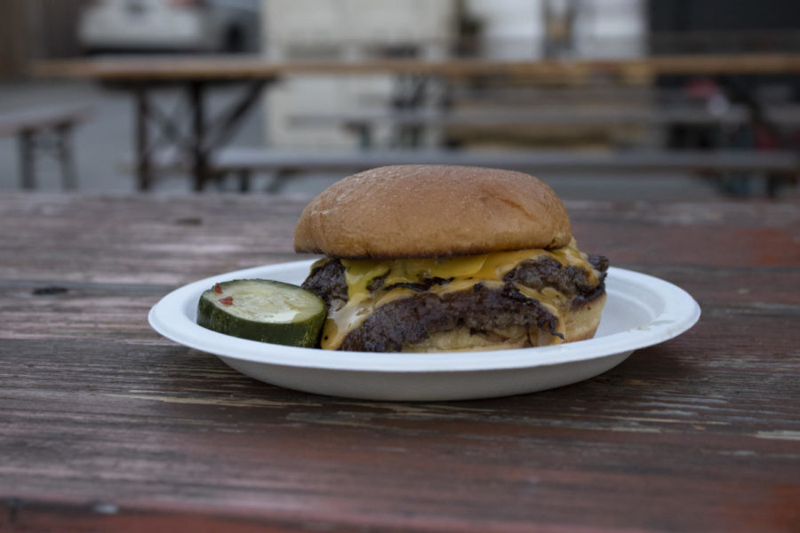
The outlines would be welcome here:
<svg viewBox="0 0 800 533">
<path fill-rule="evenodd" d="M 564 204 L 516 171 L 402 165 L 342 179 L 308 204 L 303 287 L 325 302 L 321 346 L 438 352 L 591 338 L 608 260 L 578 250 Z"/>
</svg>

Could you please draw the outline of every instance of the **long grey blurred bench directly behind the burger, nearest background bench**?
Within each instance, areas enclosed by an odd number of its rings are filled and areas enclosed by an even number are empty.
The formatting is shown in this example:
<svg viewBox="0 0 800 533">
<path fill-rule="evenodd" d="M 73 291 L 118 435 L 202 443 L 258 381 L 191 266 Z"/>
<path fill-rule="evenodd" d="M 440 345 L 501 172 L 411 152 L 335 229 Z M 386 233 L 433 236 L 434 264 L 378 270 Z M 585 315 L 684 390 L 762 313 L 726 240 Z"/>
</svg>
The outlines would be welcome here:
<svg viewBox="0 0 800 533">
<path fill-rule="evenodd" d="M 165 171 L 189 171 L 191 162 L 179 155 L 160 154 L 155 164 Z M 293 176 L 303 173 L 365 171 L 396 164 L 451 164 L 483 166 L 524 171 L 620 173 L 755 173 L 766 180 L 769 195 L 774 195 L 786 180 L 796 180 L 800 154 L 791 151 L 753 152 L 750 150 L 459 150 L 393 149 L 297 150 L 261 147 L 228 147 L 208 162 L 212 180 L 226 187 L 233 179 L 240 192 L 252 190 L 253 178 L 268 176 L 266 192 L 280 192 Z M 772 188 L 771 188 L 772 187 Z"/>
</svg>

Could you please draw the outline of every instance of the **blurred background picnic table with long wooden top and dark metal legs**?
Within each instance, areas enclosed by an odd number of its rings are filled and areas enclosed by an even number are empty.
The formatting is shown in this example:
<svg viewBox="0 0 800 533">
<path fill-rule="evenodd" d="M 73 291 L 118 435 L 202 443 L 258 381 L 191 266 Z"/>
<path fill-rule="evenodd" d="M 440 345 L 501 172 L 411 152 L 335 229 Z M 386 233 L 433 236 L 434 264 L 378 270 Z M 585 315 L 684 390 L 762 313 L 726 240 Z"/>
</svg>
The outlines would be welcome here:
<svg viewBox="0 0 800 533">
<path fill-rule="evenodd" d="M 759 75 L 800 72 L 800 54 L 740 54 L 657 56 L 625 60 L 298 60 L 269 61 L 259 57 L 128 57 L 91 60 L 50 60 L 34 64 L 33 74 L 44 77 L 90 79 L 131 91 L 135 100 L 138 188 L 147 190 L 156 179 L 154 158 L 161 150 L 177 152 L 191 161 L 194 188 L 213 179 L 211 162 L 233 136 L 269 84 L 287 76 L 392 75 L 396 104 L 411 108 L 420 87 L 431 78 L 474 79 L 508 76 L 543 83 L 587 83 L 593 76 L 616 76 L 642 83 L 660 75 Z M 220 84 L 241 85 L 241 93 L 212 115 L 205 101 Z M 186 109 L 174 113 L 156 106 L 152 92 L 163 86 L 180 87 Z"/>
</svg>

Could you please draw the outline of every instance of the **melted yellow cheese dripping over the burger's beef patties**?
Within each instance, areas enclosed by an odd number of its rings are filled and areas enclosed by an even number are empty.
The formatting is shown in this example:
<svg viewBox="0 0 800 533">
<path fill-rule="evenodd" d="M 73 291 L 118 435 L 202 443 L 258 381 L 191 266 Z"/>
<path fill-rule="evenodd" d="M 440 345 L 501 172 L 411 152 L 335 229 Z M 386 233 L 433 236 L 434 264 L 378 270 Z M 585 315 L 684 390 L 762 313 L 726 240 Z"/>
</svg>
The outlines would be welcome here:
<svg viewBox="0 0 800 533">
<path fill-rule="evenodd" d="M 376 278 L 385 276 L 383 287 L 396 283 L 417 283 L 433 278 L 451 280 L 443 284 L 433 284 L 428 292 L 446 294 L 458 290 L 468 290 L 477 283 L 487 287 L 501 288 L 502 278 L 525 260 L 535 260 L 540 256 L 555 259 L 564 266 L 579 267 L 588 273 L 588 282 L 598 282 L 594 267 L 587 256 L 578 251 L 574 240 L 568 246 L 556 250 L 528 249 L 519 251 L 500 251 L 474 256 L 452 258 L 392 259 L 392 260 L 351 260 L 341 259 L 345 267 L 345 281 L 348 284 L 348 301 L 337 309 L 331 309 L 325 321 L 322 343 L 324 349 L 337 349 L 348 333 L 360 326 L 372 312 L 389 302 L 408 298 L 417 294 L 414 290 L 396 287 L 392 290 L 376 290 L 373 294 L 369 286 Z M 326 259 L 322 259 L 326 260 Z M 313 269 L 313 267 L 312 267 Z M 558 290 L 545 288 L 533 290 L 517 287 L 525 296 L 539 300 L 556 317 L 560 330 L 562 310 L 569 307 L 569 298 Z M 560 339 L 554 337 L 554 342 Z"/>
</svg>

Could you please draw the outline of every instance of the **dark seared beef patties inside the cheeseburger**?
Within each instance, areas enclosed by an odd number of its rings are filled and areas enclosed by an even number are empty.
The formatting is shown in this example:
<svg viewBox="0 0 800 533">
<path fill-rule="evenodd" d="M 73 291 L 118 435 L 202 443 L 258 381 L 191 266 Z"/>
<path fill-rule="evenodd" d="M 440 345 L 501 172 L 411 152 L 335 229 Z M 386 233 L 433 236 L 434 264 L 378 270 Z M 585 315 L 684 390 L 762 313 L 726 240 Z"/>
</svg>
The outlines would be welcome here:
<svg viewBox="0 0 800 533">
<path fill-rule="evenodd" d="M 473 333 L 503 330 L 509 326 L 536 325 L 551 335 L 556 332 L 556 317 L 535 298 L 529 298 L 517 289 L 523 285 L 535 290 L 552 287 L 569 298 L 572 306 L 579 307 L 600 297 L 605 290 L 605 271 L 608 259 L 589 256 L 589 263 L 600 272 L 599 282 L 588 282 L 588 272 L 573 266 L 564 266 L 555 259 L 540 257 L 520 263 L 503 276 L 501 288 L 488 288 L 476 283 L 471 290 L 460 290 L 436 295 L 428 292 L 434 284 L 450 280 L 429 278 L 420 282 L 397 283 L 384 287 L 383 278 L 376 278 L 368 287 L 376 290 L 393 290 L 400 286 L 419 292 L 380 306 L 342 341 L 340 350 L 360 352 L 396 352 L 404 344 L 416 344 L 431 334 L 468 328 Z M 328 310 L 338 308 L 348 299 L 345 268 L 339 259 L 329 259 L 315 267 L 303 287 L 323 298 Z"/>
</svg>

